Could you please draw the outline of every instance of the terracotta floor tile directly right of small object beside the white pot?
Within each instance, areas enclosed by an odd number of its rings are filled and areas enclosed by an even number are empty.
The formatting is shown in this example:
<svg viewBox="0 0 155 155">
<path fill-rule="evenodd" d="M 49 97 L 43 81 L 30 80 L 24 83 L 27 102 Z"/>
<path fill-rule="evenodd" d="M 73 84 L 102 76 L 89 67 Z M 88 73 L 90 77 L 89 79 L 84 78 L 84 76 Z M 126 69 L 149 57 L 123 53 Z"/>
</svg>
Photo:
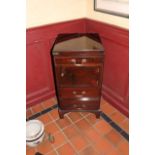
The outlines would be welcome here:
<svg viewBox="0 0 155 155">
<path fill-rule="evenodd" d="M 60 145 L 64 144 L 65 142 L 66 142 L 65 136 L 61 132 L 58 132 L 54 135 L 54 142 L 52 143 L 52 146 L 54 148 L 57 148 Z"/>
</svg>

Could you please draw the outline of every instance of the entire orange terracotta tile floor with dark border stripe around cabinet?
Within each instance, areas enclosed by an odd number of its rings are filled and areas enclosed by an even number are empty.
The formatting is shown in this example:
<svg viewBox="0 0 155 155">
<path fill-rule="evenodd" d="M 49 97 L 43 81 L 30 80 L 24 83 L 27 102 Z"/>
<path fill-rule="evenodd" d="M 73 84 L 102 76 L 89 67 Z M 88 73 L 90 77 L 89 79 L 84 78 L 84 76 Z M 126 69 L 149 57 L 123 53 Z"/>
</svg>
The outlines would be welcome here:
<svg viewBox="0 0 155 155">
<path fill-rule="evenodd" d="M 51 98 L 26 110 L 27 120 L 35 116 L 44 123 L 45 133 L 54 136 L 52 142 L 45 135 L 38 146 L 26 146 L 26 155 L 37 152 L 43 155 L 129 154 L 129 119 L 108 102 L 101 101 L 103 115 L 100 119 L 87 112 L 71 112 L 59 119 L 56 105 L 56 99 Z M 48 110 L 49 107 L 54 108 Z M 42 111 L 47 112 L 40 114 Z"/>
</svg>

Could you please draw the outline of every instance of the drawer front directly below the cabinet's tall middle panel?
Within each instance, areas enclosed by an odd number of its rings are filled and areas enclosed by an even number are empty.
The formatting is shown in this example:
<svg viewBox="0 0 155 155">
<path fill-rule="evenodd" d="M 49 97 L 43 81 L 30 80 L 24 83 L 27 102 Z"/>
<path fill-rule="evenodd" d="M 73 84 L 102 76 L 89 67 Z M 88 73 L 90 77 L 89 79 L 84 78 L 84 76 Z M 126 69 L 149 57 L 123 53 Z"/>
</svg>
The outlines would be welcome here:
<svg viewBox="0 0 155 155">
<path fill-rule="evenodd" d="M 60 88 L 59 97 L 63 99 L 69 98 L 97 98 L 100 96 L 100 89 L 92 88 Z"/>
</svg>

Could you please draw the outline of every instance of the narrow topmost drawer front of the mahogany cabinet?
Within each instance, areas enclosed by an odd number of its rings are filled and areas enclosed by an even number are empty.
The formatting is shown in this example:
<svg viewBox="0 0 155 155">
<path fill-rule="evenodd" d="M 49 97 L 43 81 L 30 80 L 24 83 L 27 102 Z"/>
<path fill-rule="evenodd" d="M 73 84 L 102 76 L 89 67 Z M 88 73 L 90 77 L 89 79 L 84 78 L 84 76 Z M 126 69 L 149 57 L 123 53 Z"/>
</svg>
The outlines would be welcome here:
<svg viewBox="0 0 155 155">
<path fill-rule="evenodd" d="M 56 64 L 95 64 L 102 63 L 103 58 L 94 57 L 94 58 L 55 58 Z"/>
</svg>

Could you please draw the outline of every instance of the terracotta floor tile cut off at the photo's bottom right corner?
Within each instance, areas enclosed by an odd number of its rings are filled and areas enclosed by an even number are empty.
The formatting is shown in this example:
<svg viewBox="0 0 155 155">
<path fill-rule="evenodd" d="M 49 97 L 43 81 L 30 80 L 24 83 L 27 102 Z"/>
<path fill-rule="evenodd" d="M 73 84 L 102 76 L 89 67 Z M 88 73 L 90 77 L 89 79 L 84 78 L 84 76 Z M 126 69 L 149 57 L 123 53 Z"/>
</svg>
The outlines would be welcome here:
<svg viewBox="0 0 155 155">
<path fill-rule="evenodd" d="M 123 140 L 119 146 L 118 149 L 122 153 L 122 155 L 129 155 L 129 143 L 126 140 Z"/>
</svg>

